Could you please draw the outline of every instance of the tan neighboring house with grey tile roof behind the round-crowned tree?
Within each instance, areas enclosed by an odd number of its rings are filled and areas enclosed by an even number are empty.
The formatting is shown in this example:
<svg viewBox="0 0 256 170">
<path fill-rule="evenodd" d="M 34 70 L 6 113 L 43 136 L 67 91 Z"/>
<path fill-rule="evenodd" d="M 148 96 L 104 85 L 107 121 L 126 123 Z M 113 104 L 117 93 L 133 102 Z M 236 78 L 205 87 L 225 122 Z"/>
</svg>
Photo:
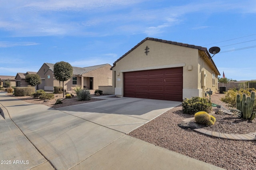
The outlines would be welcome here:
<svg viewBox="0 0 256 170">
<path fill-rule="evenodd" d="M 38 89 L 53 91 L 54 86 L 62 86 L 54 78 L 54 64 L 44 63 L 37 74 L 42 79 Z M 99 86 L 112 86 L 112 71 L 110 64 L 101 64 L 89 67 L 73 67 L 73 76 L 64 82 L 64 88 L 70 90 L 72 87 L 81 86 L 89 90 L 96 90 Z"/>
</svg>

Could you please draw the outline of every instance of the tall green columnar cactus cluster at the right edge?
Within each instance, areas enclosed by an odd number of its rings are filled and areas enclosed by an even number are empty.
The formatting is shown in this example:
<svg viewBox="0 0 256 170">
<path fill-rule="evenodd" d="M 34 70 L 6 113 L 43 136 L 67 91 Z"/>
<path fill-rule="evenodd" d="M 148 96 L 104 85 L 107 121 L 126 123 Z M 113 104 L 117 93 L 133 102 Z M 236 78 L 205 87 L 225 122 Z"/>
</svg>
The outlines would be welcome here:
<svg viewBox="0 0 256 170">
<path fill-rule="evenodd" d="M 246 98 L 246 95 L 243 94 L 242 100 L 241 96 L 238 94 L 236 96 L 236 109 L 242 111 L 242 117 L 244 119 L 253 120 L 255 118 L 256 113 L 252 111 L 254 100 L 255 100 L 255 92 L 251 92 L 251 96 Z"/>
</svg>

